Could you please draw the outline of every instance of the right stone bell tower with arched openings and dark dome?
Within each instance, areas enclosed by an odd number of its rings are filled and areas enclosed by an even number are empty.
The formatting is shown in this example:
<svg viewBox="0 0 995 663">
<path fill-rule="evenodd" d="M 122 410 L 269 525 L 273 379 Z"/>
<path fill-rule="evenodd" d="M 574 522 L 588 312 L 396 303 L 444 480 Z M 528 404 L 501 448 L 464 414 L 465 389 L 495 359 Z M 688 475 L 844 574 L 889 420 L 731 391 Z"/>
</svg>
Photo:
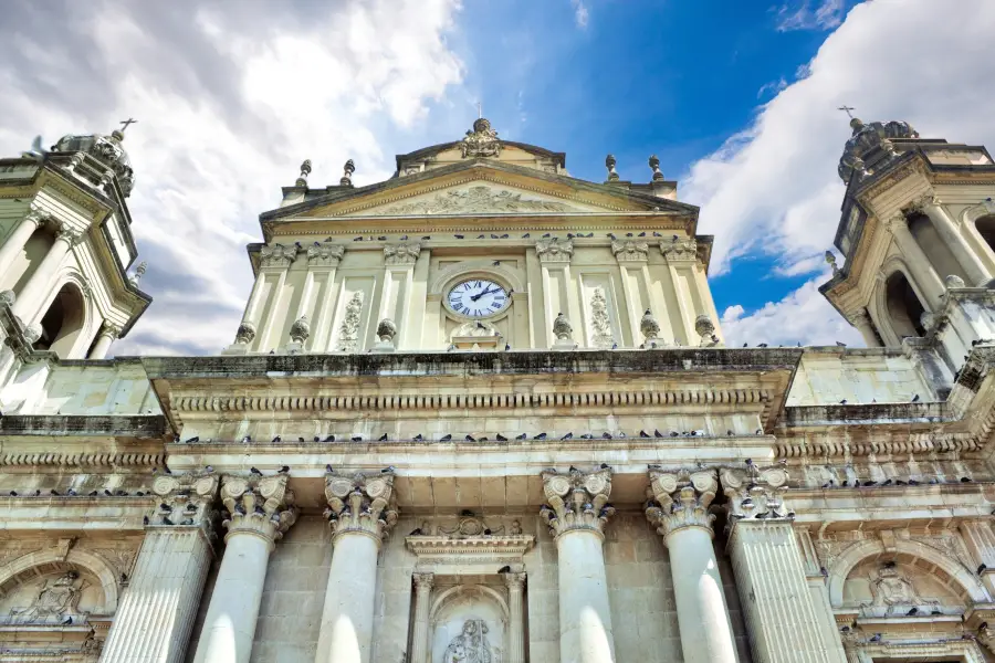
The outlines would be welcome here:
<svg viewBox="0 0 995 663">
<path fill-rule="evenodd" d="M 850 120 L 832 278 L 821 292 L 870 347 L 929 347 L 956 372 L 995 338 L 995 162 L 904 122 Z"/>
</svg>

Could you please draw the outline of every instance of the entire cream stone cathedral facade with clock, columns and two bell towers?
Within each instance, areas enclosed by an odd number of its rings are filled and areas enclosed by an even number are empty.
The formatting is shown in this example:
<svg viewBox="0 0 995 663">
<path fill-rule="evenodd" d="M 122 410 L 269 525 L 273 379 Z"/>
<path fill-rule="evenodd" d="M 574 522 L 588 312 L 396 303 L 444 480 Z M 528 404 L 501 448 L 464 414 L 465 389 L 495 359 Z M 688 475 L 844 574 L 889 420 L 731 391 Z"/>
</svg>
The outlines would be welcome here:
<svg viewBox="0 0 995 663">
<path fill-rule="evenodd" d="M 656 157 L 480 118 L 305 161 L 231 345 L 107 359 L 124 131 L 0 159 L 0 663 L 995 661 L 995 164 L 851 127 L 866 348 L 726 347 Z"/>
</svg>

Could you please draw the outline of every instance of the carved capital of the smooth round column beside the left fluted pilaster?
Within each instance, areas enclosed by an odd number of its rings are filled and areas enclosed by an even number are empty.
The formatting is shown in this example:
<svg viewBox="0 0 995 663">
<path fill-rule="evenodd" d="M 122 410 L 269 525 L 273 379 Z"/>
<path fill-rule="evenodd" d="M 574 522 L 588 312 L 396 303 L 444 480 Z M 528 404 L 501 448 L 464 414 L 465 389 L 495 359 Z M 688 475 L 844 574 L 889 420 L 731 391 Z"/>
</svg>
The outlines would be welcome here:
<svg viewBox="0 0 995 663">
<path fill-rule="evenodd" d="M 228 509 L 221 523 L 228 529 L 226 540 L 237 534 L 254 534 L 274 546 L 297 520 L 294 492 L 286 487 L 287 476 L 231 476 L 221 480 L 221 503 Z"/>
</svg>

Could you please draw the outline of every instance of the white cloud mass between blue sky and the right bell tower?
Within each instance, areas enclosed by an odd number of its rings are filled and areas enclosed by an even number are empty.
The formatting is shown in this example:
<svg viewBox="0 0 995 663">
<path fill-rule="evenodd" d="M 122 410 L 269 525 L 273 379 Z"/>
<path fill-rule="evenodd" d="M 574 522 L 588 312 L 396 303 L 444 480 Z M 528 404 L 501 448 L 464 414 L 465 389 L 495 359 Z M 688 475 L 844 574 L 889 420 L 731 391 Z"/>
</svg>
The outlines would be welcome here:
<svg viewBox="0 0 995 663">
<path fill-rule="evenodd" d="M 844 103 L 866 120 L 904 119 L 926 137 L 995 146 L 993 24 L 988 0 L 876 0 L 852 9 L 800 70 L 805 77 L 695 162 L 682 183 L 682 198 L 702 208 L 702 231 L 716 235 L 715 273 L 751 253 L 778 256 L 782 274 L 804 275 L 820 264 L 842 201 L 836 165 L 850 130 L 836 108 Z M 836 315 L 814 284 L 755 314 L 732 315 L 726 334 L 753 341 L 747 332 L 760 316 L 785 329 L 785 338 L 816 341 L 808 323 L 787 316 Z M 808 308 L 806 297 L 814 299 Z M 778 312 L 783 317 L 772 317 Z"/>
</svg>

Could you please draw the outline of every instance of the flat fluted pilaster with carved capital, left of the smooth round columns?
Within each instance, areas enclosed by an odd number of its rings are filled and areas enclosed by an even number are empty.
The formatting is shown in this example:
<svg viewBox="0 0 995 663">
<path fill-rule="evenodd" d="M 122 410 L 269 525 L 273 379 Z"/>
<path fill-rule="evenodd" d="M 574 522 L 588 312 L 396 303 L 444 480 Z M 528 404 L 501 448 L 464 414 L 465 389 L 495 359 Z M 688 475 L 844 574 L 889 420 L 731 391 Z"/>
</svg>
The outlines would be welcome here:
<svg viewBox="0 0 995 663">
<path fill-rule="evenodd" d="M 211 561 L 213 475 L 159 476 L 156 515 L 104 645 L 102 663 L 180 663 Z"/>
</svg>

